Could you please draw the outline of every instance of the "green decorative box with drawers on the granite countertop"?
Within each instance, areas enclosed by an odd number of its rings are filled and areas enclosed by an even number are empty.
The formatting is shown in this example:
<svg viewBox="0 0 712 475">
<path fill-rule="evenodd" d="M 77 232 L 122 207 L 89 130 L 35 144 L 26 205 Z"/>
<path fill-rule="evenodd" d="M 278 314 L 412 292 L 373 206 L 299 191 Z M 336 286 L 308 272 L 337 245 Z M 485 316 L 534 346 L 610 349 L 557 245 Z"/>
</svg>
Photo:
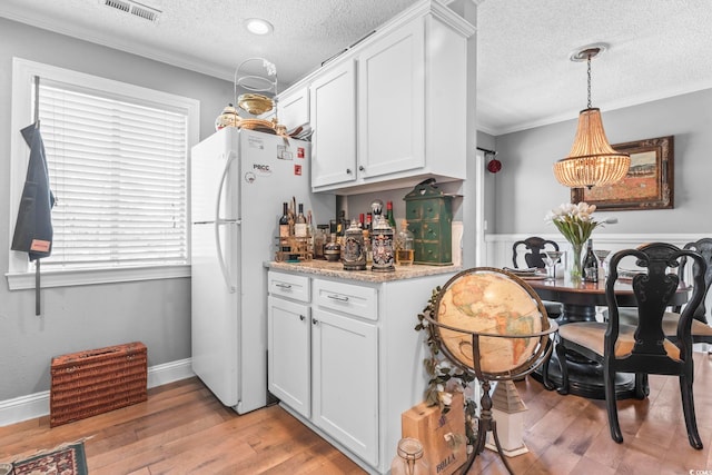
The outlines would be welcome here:
<svg viewBox="0 0 712 475">
<path fill-rule="evenodd" d="M 453 198 L 443 194 L 432 178 L 403 198 L 408 229 L 414 235 L 414 264 L 453 264 Z"/>
</svg>

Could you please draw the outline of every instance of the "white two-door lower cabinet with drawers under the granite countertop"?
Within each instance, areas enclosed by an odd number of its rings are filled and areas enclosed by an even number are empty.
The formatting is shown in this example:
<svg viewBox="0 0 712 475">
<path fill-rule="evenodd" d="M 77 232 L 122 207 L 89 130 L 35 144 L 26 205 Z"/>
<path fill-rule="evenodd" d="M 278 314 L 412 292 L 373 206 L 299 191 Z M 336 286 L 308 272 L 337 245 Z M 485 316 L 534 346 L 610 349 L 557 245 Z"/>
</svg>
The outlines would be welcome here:
<svg viewBox="0 0 712 475">
<path fill-rule="evenodd" d="M 269 392 L 366 471 L 388 473 L 400 414 L 427 382 L 417 314 L 452 275 L 373 283 L 269 270 Z"/>
</svg>

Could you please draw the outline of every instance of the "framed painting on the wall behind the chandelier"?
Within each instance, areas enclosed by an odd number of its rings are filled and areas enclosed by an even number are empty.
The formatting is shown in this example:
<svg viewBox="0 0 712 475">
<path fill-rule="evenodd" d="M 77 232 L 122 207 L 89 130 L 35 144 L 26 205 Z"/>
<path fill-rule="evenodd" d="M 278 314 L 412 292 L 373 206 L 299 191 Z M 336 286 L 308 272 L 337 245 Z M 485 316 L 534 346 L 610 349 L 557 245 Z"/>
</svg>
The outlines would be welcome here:
<svg viewBox="0 0 712 475">
<path fill-rule="evenodd" d="M 670 209 L 674 207 L 674 136 L 617 144 L 631 155 L 627 175 L 615 184 L 591 189 L 573 188 L 571 201 L 597 209 Z"/>
</svg>

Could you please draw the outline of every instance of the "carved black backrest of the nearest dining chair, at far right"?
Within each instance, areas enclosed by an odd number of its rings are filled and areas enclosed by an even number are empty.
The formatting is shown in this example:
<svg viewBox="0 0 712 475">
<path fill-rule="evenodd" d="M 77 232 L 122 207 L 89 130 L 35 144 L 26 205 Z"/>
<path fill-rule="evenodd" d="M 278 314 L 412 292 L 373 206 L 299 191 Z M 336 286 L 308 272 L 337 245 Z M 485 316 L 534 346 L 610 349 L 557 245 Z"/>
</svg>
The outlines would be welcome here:
<svg viewBox="0 0 712 475">
<path fill-rule="evenodd" d="M 619 306 L 615 297 L 615 285 L 619 280 L 619 263 L 626 256 L 633 256 L 635 264 L 642 268 L 641 274 L 633 277 L 633 294 L 637 300 L 637 328 L 635 343 L 630 356 L 619 359 L 619 370 L 624 368 L 641 369 L 641 365 L 647 366 L 651 373 L 675 372 L 680 362 L 673 362 L 666 356 L 665 346 L 673 345 L 665 342 L 662 320 L 665 308 L 678 291 L 680 277 L 669 269 L 678 269 L 682 258 L 692 260 L 692 294 L 688 305 L 683 309 L 679 324 L 674 345 L 678 346 L 680 358 L 683 362 L 692 357 L 692 325 L 693 310 L 700 305 L 704 296 L 704 273 L 706 263 L 703 257 L 690 249 L 680 249 L 665 243 L 653 243 L 640 246 L 636 249 L 624 249 L 611 258 L 609 278 L 606 279 L 605 295 L 609 304 L 609 329 L 605 335 L 605 352 L 614 355 L 614 348 L 619 338 Z M 654 358 L 659 356 L 660 358 Z M 623 363 L 622 363 L 623 362 Z"/>
</svg>

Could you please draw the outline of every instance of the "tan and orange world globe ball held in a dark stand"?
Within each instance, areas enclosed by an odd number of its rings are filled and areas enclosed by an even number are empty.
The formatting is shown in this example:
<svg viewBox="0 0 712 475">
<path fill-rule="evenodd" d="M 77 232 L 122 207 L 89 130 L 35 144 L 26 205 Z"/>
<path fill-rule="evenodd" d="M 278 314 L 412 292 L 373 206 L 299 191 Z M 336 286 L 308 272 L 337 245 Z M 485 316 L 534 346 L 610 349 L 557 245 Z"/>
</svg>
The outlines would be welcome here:
<svg viewBox="0 0 712 475">
<path fill-rule="evenodd" d="M 526 370 L 548 338 L 541 334 L 550 327 L 541 299 L 526 283 L 503 270 L 473 270 L 457 274 L 439 293 L 435 318 L 443 324 L 438 325 L 443 349 L 474 369 L 475 334 L 479 343 L 475 357 L 483 373 L 516 375 Z"/>
</svg>

